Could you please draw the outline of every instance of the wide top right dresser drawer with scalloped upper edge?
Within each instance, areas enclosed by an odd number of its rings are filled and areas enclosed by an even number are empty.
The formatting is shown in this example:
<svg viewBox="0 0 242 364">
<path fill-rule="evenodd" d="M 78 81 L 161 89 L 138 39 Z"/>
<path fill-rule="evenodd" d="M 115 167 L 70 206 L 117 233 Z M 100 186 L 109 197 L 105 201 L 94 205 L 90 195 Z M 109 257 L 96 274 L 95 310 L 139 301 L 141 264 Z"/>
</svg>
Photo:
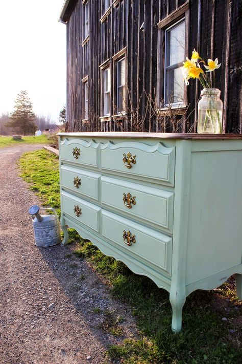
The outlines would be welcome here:
<svg viewBox="0 0 242 364">
<path fill-rule="evenodd" d="M 137 142 L 108 142 L 101 144 L 101 168 L 174 186 L 175 147 L 168 148 L 160 142 L 152 146 Z"/>
</svg>

